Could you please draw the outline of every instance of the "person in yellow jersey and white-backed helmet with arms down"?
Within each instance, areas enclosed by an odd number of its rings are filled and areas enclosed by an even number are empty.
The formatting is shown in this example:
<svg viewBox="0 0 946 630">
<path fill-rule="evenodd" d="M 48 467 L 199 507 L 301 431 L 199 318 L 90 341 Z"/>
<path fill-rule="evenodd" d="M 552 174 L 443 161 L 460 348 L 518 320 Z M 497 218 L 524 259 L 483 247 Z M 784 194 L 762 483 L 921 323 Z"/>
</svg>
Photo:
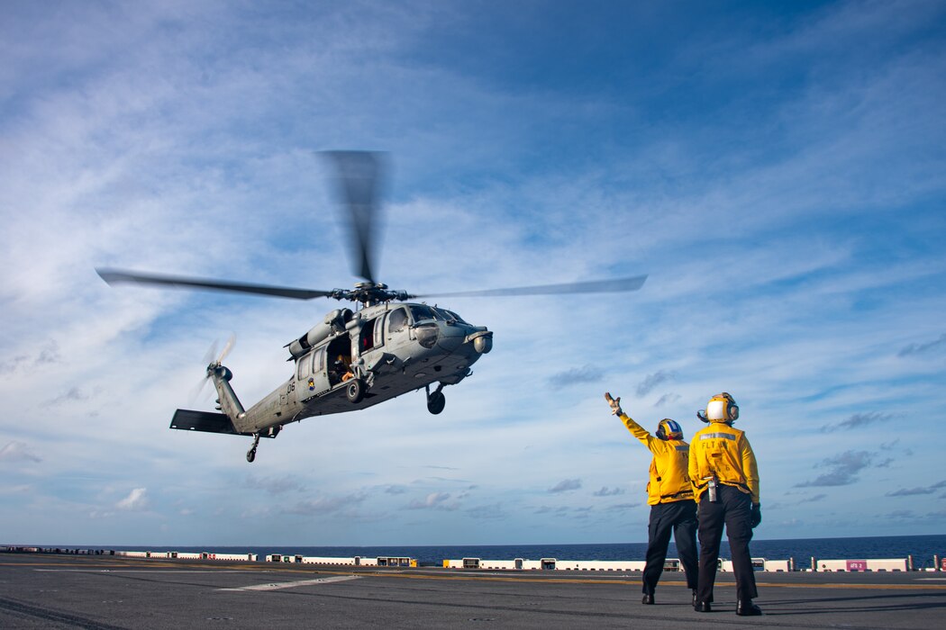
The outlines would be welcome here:
<svg viewBox="0 0 946 630">
<path fill-rule="evenodd" d="M 732 428 L 739 417 L 739 406 L 729 394 L 713 396 L 706 410 L 696 415 L 710 426 L 693 435 L 690 449 L 690 479 L 699 505 L 700 536 L 699 584 L 693 608 L 697 612 L 711 611 L 725 524 L 736 577 L 736 614 L 761 615 L 762 610 L 752 603 L 759 593 L 749 553 L 752 529 L 762 522 L 756 456 L 745 434 Z"/>
</svg>

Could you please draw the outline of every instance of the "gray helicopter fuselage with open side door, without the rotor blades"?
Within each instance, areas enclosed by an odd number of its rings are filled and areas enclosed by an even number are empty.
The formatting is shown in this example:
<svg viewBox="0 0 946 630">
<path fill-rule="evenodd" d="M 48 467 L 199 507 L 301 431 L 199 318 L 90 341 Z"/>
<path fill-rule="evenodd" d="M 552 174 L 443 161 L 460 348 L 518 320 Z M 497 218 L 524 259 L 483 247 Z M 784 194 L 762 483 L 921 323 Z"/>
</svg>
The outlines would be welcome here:
<svg viewBox="0 0 946 630">
<path fill-rule="evenodd" d="M 333 311 L 290 342 L 292 376 L 246 411 L 230 387 L 229 370 L 211 376 L 219 409 L 240 434 L 274 434 L 290 422 L 364 409 L 422 387 L 428 389 L 429 410 L 439 413 L 441 388 L 470 374 L 470 366 L 492 348 L 492 335 L 446 309 L 385 302 L 354 313 Z M 429 391 L 433 383 L 439 408 Z"/>
</svg>

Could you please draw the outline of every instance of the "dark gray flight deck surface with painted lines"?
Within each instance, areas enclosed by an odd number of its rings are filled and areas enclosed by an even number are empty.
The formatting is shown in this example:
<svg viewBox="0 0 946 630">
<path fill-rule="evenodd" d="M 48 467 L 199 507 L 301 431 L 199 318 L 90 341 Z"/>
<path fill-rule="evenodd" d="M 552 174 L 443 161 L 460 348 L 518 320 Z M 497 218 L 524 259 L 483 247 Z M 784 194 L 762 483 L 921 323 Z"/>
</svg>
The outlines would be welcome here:
<svg viewBox="0 0 946 630">
<path fill-rule="evenodd" d="M 640 604 L 639 573 L 316 569 L 310 565 L 0 553 L 0 628 L 946 628 L 946 573 L 732 575 L 696 613 L 678 573 Z"/>
</svg>

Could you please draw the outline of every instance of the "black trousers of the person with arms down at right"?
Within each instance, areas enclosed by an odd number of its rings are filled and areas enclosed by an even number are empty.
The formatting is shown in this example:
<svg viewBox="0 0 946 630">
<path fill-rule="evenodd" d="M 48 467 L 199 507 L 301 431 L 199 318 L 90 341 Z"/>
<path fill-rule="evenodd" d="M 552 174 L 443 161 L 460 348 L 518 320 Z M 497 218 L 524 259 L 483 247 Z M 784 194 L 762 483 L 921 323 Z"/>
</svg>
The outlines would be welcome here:
<svg viewBox="0 0 946 630">
<path fill-rule="evenodd" d="M 712 602 L 719 542 L 723 538 L 725 524 L 729 553 L 732 554 L 732 572 L 736 577 L 736 597 L 745 602 L 759 596 L 756 574 L 752 570 L 752 556 L 749 554 L 752 498 L 731 485 L 720 485 L 717 494 L 719 502 L 715 503 L 710 502 L 709 492 L 704 492 L 700 497 L 700 577 L 696 599 L 699 602 Z"/>
</svg>

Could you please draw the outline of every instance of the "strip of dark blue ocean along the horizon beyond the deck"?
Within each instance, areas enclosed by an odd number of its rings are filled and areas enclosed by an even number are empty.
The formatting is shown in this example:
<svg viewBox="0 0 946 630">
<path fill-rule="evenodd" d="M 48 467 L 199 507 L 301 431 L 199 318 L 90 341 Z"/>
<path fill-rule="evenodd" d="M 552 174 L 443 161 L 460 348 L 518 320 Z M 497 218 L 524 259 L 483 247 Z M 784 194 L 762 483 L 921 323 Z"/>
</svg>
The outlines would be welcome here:
<svg viewBox="0 0 946 630">
<path fill-rule="evenodd" d="M 72 546 L 74 547 L 74 545 Z M 800 568 L 807 567 L 811 558 L 853 559 L 905 558 L 912 555 L 914 567 L 925 569 L 933 566 L 933 556 L 946 557 L 946 536 L 869 536 L 857 538 L 789 538 L 785 540 L 753 540 L 749 546 L 753 557 L 768 560 L 795 558 Z M 86 548 L 83 548 L 86 549 Z M 419 546 L 391 545 L 386 547 L 286 547 L 246 546 L 225 547 L 207 545 L 202 547 L 181 546 L 114 546 L 88 547 L 87 549 L 111 549 L 114 551 L 150 552 L 209 552 L 209 553 L 256 553 L 260 557 L 268 553 L 310 555 L 323 557 L 411 557 L 422 567 L 439 567 L 445 559 L 482 558 L 489 560 L 513 560 L 523 558 L 538 560 L 643 560 L 647 543 L 604 543 L 582 545 L 436 545 Z M 728 558 L 729 549 L 723 540 L 720 557 Z M 675 557 L 671 543 L 668 557 Z"/>
</svg>

